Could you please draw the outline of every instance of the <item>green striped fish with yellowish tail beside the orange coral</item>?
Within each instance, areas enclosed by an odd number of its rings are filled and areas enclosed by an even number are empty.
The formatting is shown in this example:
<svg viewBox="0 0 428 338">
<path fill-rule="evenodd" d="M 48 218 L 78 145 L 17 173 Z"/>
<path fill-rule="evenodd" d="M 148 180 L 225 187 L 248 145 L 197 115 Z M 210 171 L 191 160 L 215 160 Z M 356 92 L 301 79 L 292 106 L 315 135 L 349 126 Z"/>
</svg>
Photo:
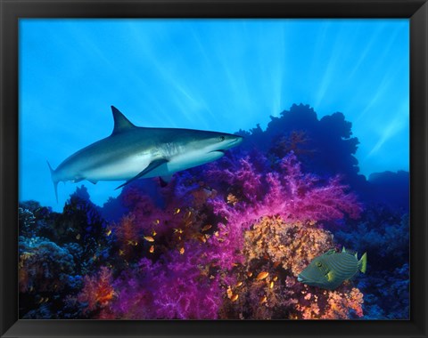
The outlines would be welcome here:
<svg viewBox="0 0 428 338">
<path fill-rule="evenodd" d="M 367 254 L 363 254 L 358 261 L 357 253 L 346 251 L 341 253 L 334 249 L 314 258 L 305 270 L 301 271 L 297 280 L 309 286 L 318 286 L 327 290 L 334 290 L 343 281 L 354 277 L 358 270 L 366 273 Z"/>
</svg>

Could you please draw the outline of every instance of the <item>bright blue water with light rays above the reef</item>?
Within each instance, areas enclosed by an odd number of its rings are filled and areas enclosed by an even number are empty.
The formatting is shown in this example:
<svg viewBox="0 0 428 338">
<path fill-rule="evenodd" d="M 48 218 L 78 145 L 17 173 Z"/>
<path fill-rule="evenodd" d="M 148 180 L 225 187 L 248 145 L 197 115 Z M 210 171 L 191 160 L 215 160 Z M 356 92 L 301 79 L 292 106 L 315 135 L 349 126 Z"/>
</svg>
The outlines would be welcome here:
<svg viewBox="0 0 428 338">
<path fill-rule="evenodd" d="M 408 170 L 408 20 L 20 20 L 20 200 L 62 210 L 46 165 L 134 124 L 234 133 L 293 103 L 341 111 L 360 173 Z M 120 182 L 83 181 L 98 205 Z M 78 183 L 79 185 L 81 183 Z"/>
</svg>

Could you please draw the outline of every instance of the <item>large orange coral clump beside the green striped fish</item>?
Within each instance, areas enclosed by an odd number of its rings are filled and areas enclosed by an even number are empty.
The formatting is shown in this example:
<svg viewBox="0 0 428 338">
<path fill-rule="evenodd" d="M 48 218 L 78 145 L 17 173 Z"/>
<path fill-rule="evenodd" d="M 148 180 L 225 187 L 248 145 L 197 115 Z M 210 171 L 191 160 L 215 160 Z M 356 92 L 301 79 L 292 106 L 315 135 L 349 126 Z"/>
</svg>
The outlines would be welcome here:
<svg viewBox="0 0 428 338">
<path fill-rule="evenodd" d="M 239 286 L 229 288 L 227 294 L 229 299 L 239 294 L 239 299 L 225 303 L 223 318 L 337 319 L 363 315 L 363 294 L 350 284 L 326 291 L 297 281 L 309 262 L 333 247 L 333 235 L 317 228 L 314 221 L 262 217 L 245 231 L 244 238 L 246 261 L 232 271 Z"/>
</svg>

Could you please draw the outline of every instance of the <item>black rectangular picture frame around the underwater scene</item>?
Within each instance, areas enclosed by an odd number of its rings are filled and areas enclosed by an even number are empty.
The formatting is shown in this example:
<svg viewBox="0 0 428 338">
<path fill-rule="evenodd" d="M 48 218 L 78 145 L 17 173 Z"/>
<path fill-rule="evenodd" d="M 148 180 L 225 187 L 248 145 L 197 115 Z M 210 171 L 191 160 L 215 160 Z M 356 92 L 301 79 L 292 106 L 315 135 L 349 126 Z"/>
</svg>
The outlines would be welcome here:
<svg viewBox="0 0 428 338">
<path fill-rule="evenodd" d="M 0 0 L 0 333 L 2 337 L 427 337 L 428 4 L 426 0 Z M 410 20 L 410 319 L 124 321 L 18 319 L 20 18 L 408 18 Z"/>
</svg>

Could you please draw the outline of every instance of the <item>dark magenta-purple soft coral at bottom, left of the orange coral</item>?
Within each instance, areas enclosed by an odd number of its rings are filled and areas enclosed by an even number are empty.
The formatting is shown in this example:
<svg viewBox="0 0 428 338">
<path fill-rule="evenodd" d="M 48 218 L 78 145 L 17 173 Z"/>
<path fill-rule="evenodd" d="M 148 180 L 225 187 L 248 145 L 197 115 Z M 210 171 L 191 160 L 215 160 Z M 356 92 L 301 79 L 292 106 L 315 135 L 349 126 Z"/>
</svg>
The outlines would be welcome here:
<svg viewBox="0 0 428 338">
<path fill-rule="evenodd" d="M 197 254 L 197 256 L 193 256 Z M 118 318 L 215 319 L 222 302 L 219 276 L 203 265 L 197 244 L 169 254 L 168 262 L 143 259 L 115 282 Z"/>
</svg>

